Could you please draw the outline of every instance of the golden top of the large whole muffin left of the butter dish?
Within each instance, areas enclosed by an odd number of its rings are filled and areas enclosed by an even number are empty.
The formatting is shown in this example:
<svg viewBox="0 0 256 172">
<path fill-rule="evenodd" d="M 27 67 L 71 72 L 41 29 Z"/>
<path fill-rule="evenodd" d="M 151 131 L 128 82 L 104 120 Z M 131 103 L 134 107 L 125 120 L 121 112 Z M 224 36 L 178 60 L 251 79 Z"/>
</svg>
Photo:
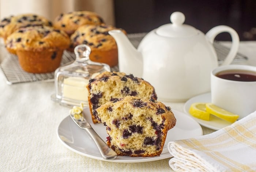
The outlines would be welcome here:
<svg viewBox="0 0 256 172">
<path fill-rule="evenodd" d="M 25 51 L 40 51 L 46 48 L 68 48 L 70 39 L 59 29 L 48 26 L 20 28 L 7 37 L 6 47 Z"/>
</svg>

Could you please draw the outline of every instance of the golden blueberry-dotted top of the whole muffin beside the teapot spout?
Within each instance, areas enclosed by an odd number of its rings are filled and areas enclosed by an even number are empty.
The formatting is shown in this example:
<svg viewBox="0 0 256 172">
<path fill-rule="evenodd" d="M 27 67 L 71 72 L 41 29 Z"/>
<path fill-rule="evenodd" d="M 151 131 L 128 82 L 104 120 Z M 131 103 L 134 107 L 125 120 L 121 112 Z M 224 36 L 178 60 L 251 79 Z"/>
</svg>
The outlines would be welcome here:
<svg viewBox="0 0 256 172">
<path fill-rule="evenodd" d="M 108 31 L 117 29 L 111 25 L 83 25 L 80 26 L 75 33 L 71 35 L 71 48 L 79 44 L 88 45 L 91 50 L 94 49 L 107 51 L 109 49 L 117 49 L 116 41 L 109 35 Z M 120 29 L 126 34 L 123 29 Z"/>
</svg>

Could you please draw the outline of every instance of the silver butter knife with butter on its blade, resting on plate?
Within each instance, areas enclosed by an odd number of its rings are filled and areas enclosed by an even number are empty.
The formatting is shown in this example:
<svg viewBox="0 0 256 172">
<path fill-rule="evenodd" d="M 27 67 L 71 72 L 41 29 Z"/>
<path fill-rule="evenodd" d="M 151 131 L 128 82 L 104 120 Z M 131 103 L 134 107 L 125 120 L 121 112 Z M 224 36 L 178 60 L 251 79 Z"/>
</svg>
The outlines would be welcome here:
<svg viewBox="0 0 256 172">
<path fill-rule="evenodd" d="M 113 160 L 116 159 L 117 154 L 116 152 L 111 149 L 105 141 L 99 137 L 99 135 L 94 131 L 91 125 L 84 119 L 84 117 L 80 117 L 80 119 L 76 119 L 74 115 L 70 113 L 70 117 L 72 120 L 82 129 L 84 129 L 90 137 L 94 140 L 95 144 L 97 145 L 99 152 L 101 153 L 103 159 L 105 160 Z"/>
</svg>

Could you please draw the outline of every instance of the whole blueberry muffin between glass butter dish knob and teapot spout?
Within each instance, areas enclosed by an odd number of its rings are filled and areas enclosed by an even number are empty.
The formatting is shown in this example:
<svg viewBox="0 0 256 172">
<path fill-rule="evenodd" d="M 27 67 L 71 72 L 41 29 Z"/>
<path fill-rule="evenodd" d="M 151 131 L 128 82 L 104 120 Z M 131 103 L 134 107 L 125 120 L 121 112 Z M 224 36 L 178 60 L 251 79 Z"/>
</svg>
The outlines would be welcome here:
<svg viewBox="0 0 256 172">
<path fill-rule="evenodd" d="M 90 59 L 106 63 L 110 67 L 118 64 L 117 45 L 108 31 L 117 29 L 110 25 L 83 25 L 71 35 L 71 51 L 76 45 L 86 44 L 91 48 Z M 126 33 L 123 29 L 120 29 Z"/>
</svg>

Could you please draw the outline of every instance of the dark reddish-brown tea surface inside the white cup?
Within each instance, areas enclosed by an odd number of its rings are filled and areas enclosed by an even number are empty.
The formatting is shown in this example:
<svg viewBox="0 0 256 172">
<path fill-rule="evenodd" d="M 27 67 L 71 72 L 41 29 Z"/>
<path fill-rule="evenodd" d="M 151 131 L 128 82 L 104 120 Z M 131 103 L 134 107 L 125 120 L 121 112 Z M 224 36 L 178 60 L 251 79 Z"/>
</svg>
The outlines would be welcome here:
<svg viewBox="0 0 256 172">
<path fill-rule="evenodd" d="M 217 77 L 233 81 L 246 81 L 252 82 L 256 81 L 256 72 L 239 70 L 239 69 L 230 69 L 221 71 L 215 74 Z"/>
</svg>

